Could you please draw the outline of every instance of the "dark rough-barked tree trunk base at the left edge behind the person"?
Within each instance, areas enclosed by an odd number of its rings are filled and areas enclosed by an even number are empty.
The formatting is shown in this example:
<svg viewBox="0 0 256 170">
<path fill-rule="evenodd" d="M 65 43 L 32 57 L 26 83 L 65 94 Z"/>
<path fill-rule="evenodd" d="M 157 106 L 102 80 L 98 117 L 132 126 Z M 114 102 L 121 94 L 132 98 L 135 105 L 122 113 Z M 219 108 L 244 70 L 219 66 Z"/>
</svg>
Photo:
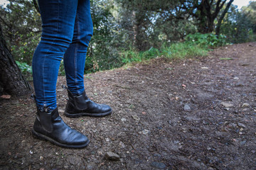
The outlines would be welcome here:
<svg viewBox="0 0 256 170">
<path fill-rule="evenodd" d="M 8 50 L 0 25 L 0 87 L 4 93 L 23 96 L 31 91 L 31 86 L 24 79 L 14 57 Z"/>
</svg>

